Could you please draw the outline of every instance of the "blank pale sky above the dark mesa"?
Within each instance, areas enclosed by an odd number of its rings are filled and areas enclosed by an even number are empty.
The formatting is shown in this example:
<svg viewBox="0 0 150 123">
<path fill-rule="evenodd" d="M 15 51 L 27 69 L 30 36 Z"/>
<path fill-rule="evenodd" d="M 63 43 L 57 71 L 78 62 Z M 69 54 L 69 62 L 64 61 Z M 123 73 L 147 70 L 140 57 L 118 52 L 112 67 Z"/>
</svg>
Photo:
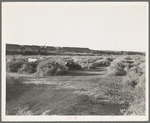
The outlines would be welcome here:
<svg viewBox="0 0 150 123">
<path fill-rule="evenodd" d="M 148 2 L 2 3 L 2 41 L 146 51 Z"/>
</svg>

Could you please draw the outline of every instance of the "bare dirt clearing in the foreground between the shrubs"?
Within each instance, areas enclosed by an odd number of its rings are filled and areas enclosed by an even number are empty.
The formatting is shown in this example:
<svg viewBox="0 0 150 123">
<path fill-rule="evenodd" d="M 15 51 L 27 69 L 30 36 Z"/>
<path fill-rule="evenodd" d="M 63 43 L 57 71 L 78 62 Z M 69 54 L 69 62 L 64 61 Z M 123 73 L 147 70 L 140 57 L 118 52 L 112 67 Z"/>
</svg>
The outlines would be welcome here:
<svg viewBox="0 0 150 123">
<path fill-rule="evenodd" d="M 111 82 L 121 83 L 122 78 L 109 77 L 106 71 L 107 68 L 101 67 L 51 77 L 8 73 L 21 78 L 22 85 L 16 95 L 7 100 L 7 115 L 24 112 L 32 115 L 122 115 L 120 110 L 128 105 L 121 100 L 118 103 L 108 93 L 121 90 L 121 86 L 112 89 Z"/>
</svg>

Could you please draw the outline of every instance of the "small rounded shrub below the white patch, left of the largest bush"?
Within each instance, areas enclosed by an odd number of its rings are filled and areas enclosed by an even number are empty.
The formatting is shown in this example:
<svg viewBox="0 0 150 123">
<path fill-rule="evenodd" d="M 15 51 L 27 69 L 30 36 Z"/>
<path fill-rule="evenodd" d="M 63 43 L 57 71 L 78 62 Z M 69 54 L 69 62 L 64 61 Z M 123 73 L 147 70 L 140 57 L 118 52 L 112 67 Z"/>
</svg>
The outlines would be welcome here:
<svg viewBox="0 0 150 123">
<path fill-rule="evenodd" d="M 35 73 L 36 69 L 30 64 L 23 64 L 21 68 L 18 69 L 18 73 Z"/>
</svg>

